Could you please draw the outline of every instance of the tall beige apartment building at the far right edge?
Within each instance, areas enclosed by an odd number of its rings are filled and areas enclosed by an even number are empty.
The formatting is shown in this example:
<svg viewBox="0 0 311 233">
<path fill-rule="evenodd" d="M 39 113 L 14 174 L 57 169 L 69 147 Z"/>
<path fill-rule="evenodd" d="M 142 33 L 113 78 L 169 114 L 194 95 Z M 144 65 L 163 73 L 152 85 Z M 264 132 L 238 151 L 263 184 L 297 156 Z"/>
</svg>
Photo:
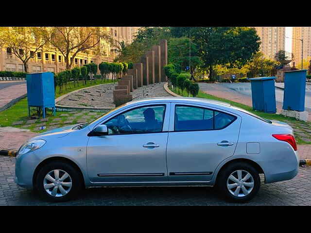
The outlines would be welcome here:
<svg viewBox="0 0 311 233">
<path fill-rule="evenodd" d="M 294 62 L 301 63 L 302 42 L 303 39 L 303 59 L 311 59 L 311 27 L 293 27 L 292 52 Z M 298 39 L 298 40 L 297 40 Z"/>
</svg>

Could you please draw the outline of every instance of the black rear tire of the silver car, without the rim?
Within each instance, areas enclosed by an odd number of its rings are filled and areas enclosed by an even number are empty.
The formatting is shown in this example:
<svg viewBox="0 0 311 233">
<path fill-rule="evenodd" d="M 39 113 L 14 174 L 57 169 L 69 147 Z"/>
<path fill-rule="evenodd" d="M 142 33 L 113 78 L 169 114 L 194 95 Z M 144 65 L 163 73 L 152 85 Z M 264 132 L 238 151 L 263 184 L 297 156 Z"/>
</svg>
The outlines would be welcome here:
<svg viewBox="0 0 311 233">
<path fill-rule="evenodd" d="M 244 197 L 237 197 L 231 194 L 227 188 L 227 180 L 229 176 L 237 170 L 244 170 L 249 172 L 254 180 L 254 187 L 250 193 Z M 221 191 L 222 195 L 226 200 L 233 202 L 246 202 L 253 199 L 259 191 L 260 188 L 260 177 L 258 171 L 250 164 L 244 162 L 237 162 L 226 166 L 217 178 L 217 188 Z M 242 192 L 242 191 L 241 191 Z"/>
</svg>

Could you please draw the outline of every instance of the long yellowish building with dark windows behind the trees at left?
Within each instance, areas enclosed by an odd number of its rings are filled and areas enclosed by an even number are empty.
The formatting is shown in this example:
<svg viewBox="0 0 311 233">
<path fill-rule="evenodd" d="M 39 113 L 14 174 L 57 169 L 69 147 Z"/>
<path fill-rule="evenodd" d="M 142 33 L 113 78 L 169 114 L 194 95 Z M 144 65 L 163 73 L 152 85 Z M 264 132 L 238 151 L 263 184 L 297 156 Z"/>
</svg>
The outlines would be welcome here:
<svg viewBox="0 0 311 233">
<path fill-rule="evenodd" d="M 111 35 L 112 38 L 117 41 L 124 41 L 125 43 L 131 43 L 133 36 L 138 31 L 138 27 L 103 27 Z M 95 52 L 89 50 L 88 53 L 80 52 L 74 58 L 72 67 L 80 67 L 85 64 L 94 62 L 100 64 L 101 62 L 112 62 L 116 56 L 115 49 L 112 48 L 109 43 L 103 41 L 100 43 L 101 50 L 104 50 L 104 55 L 97 56 Z M 28 72 L 46 72 L 52 71 L 55 73 L 64 71 L 66 69 L 66 63 L 64 56 L 57 50 L 43 52 L 38 51 L 32 55 L 32 58 L 28 62 Z M 0 48 L 0 71 L 24 71 L 22 62 L 12 53 L 12 51 L 6 47 Z"/>
</svg>

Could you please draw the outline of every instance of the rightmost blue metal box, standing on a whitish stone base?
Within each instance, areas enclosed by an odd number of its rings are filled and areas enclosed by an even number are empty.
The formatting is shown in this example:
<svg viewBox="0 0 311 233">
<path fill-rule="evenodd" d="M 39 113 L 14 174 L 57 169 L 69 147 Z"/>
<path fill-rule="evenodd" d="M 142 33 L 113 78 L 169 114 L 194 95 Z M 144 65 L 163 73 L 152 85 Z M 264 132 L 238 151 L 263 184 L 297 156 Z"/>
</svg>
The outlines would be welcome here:
<svg viewBox="0 0 311 233">
<path fill-rule="evenodd" d="M 305 111 L 307 70 L 284 72 L 283 109 Z"/>
</svg>

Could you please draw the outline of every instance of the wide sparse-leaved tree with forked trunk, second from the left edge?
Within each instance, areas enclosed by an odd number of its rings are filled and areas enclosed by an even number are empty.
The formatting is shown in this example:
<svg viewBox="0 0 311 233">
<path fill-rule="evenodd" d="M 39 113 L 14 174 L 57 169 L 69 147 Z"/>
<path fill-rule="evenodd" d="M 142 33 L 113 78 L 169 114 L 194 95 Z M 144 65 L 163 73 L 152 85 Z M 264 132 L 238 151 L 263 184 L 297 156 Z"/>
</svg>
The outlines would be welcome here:
<svg viewBox="0 0 311 233">
<path fill-rule="evenodd" d="M 63 54 L 66 69 L 71 68 L 78 52 L 103 54 L 102 43 L 110 40 L 101 27 L 41 27 L 41 30 L 49 45 Z"/>
</svg>

